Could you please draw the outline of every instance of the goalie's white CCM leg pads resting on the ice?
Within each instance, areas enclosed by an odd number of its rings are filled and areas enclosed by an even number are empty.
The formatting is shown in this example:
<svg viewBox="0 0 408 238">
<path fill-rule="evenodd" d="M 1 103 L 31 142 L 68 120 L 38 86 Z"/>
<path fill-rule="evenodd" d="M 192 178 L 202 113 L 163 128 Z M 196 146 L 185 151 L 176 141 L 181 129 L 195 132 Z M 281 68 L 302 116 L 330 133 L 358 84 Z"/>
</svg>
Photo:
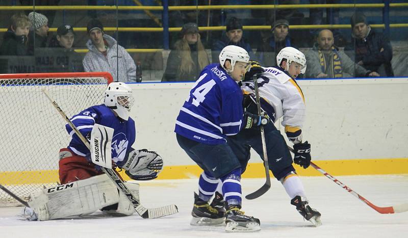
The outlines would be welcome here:
<svg viewBox="0 0 408 238">
<path fill-rule="evenodd" d="M 139 184 L 132 183 L 129 189 L 139 197 Z M 117 214 L 131 215 L 135 211 L 124 195 L 119 196 L 106 174 L 41 189 L 30 195 L 28 203 L 40 221 L 87 215 L 115 203 L 119 203 Z"/>
</svg>

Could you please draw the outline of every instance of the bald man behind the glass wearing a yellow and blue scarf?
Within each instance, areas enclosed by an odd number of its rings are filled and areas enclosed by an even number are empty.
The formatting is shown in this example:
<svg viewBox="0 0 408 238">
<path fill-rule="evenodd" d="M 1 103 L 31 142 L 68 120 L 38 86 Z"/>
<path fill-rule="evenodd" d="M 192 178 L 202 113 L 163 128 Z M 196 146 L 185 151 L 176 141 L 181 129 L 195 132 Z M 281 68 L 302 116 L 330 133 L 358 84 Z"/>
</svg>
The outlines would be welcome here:
<svg viewBox="0 0 408 238">
<path fill-rule="evenodd" d="M 355 64 L 343 50 L 334 46 L 333 33 L 324 29 L 317 37 L 317 44 L 306 52 L 308 78 L 335 78 L 352 76 L 379 76 L 377 72 L 366 70 Z"/>
</svg>

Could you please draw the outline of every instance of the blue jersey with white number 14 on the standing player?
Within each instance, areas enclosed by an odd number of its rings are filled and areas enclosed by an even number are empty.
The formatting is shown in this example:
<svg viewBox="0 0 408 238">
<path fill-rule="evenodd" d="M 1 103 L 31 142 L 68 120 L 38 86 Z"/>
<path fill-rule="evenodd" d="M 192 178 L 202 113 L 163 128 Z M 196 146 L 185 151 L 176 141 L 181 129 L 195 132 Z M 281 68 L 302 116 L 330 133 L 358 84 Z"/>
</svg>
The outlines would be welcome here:
<svg viewBox="0 0 408 238">
<path fill-rule="evenodd" d="M 217 145 L 242 126 L 243 93 L 220 64 L 205 67 L 177 116 L 174 132 L 188 139 Z"/>
</svg>

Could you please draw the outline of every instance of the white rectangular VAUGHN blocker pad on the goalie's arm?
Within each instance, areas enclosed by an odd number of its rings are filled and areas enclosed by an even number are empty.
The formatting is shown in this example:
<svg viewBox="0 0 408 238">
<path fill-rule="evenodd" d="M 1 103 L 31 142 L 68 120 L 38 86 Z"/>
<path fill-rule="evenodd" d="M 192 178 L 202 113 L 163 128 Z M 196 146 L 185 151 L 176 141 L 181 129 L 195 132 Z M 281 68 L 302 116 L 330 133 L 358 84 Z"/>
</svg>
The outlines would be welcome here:
<svg viewBox="0 0 408 238">
<path fill-rule="evenodd" d="M 94 124 L 91 132 L 90 151 L 95 165 L 112 168 L 112 137 L 114 129 L 100 124 Z"/>
</svg>

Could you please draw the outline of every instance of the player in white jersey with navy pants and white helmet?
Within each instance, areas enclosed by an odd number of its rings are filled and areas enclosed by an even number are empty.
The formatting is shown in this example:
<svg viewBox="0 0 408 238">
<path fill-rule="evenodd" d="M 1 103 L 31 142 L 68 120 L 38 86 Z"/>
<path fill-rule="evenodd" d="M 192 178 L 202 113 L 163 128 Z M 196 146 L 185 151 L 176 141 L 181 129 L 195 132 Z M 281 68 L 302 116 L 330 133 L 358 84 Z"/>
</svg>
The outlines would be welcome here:
<svg viewBox="0 0 408 238">
<path fill-rule="evenodd" d="M 241 87 L 246 98 L 244 107 L 249 113 L 258 114 L 252 80 L 253 75 L 258 75 L 262 111 L 267 113 L 273 122 L 283 118 L 282 125 L 285 126 L 286 135 L 294 144 L 294 163 L 306 169 L 311 161 L 310 144 L 307 141 L 302 142 L 305 104 L 303 93 L 295 81 L 300 73 L 304 73 L 306 59 L 299 50 L 285 47 L 277 55 L 276 62 L 278 66 L 266 68 L 257 62 L 251 62 L 251 69 L 245 74 Z M 273 122 L 264 126 L 269 169 L 275 178 L 281 181 L 291 198 L 291 204 L 296 206 L 300 215 L 314 225 L 320 225 L 321 215 L 309 206 L 303 185 L 292 166 L 292 156 L 285 139 Z M 238 135 L 228 138 L 228 144 L 242 163 L 242 168 L 248 163 L 250 148 L 263 158 L 259 127 L 241 130 Z"/>
</svg>

